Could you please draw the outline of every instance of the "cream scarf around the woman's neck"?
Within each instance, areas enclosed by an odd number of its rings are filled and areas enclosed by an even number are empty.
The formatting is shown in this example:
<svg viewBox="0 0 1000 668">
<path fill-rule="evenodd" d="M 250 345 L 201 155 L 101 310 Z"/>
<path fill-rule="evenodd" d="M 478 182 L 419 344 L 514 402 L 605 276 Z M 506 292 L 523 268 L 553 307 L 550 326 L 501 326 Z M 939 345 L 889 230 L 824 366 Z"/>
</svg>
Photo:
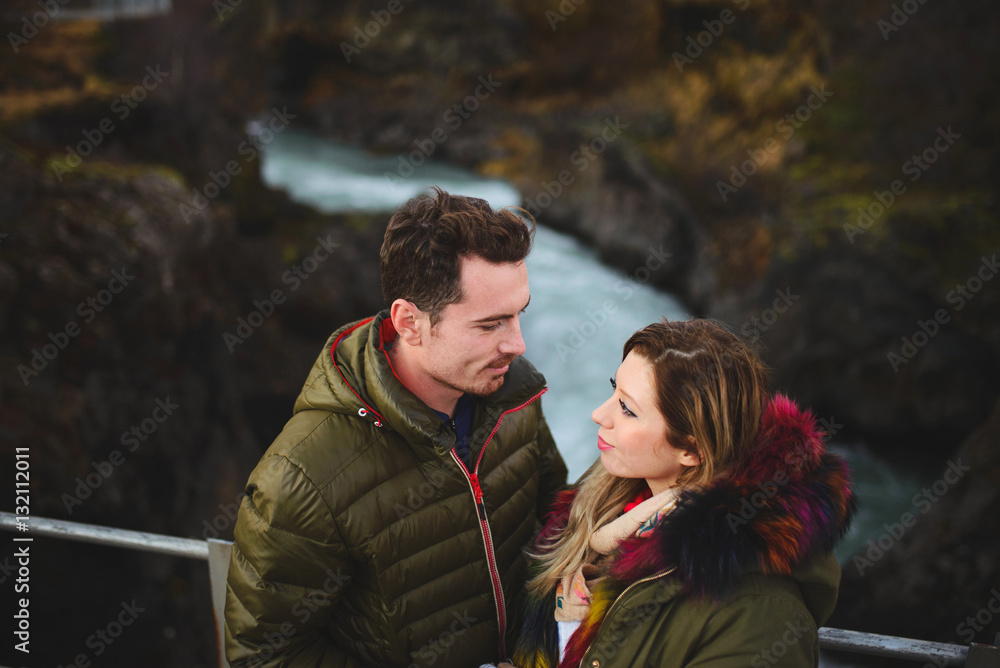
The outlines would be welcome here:
<svg viewBox="0 0 1000 668">
<path fill-rule="evenodd" d="M 674 509 L 679 493 L 679 487 L 671 487 L 616 517 L 594 531 L 590 537 L 590 547 L 598 554 L 608 555 L 629 536 L 645 538 L 652 533 L 663 516 Z M 557 622 L 579 621 L 587 615 L 590 608 L 590 588 L 599 579 L 599 573 L 600 569 L 594 564 L 583 564 L 576 573 L 563 576 L 562 582 L 556 586 Z"/>
</svg>

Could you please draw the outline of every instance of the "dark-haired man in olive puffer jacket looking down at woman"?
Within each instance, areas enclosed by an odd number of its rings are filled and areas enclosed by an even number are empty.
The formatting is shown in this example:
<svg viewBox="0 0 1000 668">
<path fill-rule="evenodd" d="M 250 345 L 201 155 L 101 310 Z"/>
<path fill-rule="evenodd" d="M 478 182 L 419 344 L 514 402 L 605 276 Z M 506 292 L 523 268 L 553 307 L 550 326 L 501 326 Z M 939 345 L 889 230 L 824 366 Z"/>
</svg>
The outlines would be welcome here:
<svg viewBox="0 0 1000 668">
<path fill-rule="evenodd" d="M 440 189 L 390 219 L 388 310 L 331 336 L 247 483 L 234 667 L 506 657 L 522 550 L 566 481 L 520 357 L 533 232 Z"/>
</svg>

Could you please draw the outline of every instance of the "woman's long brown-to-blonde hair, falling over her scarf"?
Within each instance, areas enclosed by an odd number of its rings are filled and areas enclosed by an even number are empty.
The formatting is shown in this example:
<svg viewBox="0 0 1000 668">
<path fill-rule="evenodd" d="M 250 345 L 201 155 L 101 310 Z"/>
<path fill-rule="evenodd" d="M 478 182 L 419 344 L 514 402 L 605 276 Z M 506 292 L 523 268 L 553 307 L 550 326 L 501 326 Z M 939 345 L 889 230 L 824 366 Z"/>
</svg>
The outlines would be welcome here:
<svg viewBox="0 0 1000 668">
<path fill-rule="evenodd" d="M 713 320 L 653 323 L 625 343 L 653 365 L 657 408 L 667 422 L 667 440 L 696 451 L 701 462 L 681 473 L 677 485 L 708 485 L 753 447 L 768 399 L 767 369 L 747 344 Z M 566 527 L 542 541 L 532 555 L 537 574 L 528 588 L 547 595 L 563 575 L 597 554 L 594 531 L 614 519 L 646 486 L 641 478 L 619 478 L 594 462 L 577 483 Z"/>
</svg>

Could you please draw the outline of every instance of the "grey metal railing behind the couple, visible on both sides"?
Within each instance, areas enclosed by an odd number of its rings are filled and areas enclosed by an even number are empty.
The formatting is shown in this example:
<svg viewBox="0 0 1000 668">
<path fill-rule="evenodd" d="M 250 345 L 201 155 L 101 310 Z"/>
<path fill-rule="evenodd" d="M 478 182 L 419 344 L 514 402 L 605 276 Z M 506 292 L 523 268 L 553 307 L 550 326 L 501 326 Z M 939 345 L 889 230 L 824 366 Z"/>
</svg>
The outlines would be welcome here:
<svg viewBox="0 0 1000 668">
<path fill-rule="evenodd" d="M 37 516 L 32 516 L 30 522 L 29 533 L 34 536 L 65 538 L 66 540 L 207 561 L 209 581 L 212 586 L 212 606 L 215 609 L 216 631 L 219 639 L 219 665 L 228 668 L 221 639 L 224 637 L 222 624 L 226 596 L 226 574 L 229 569 L 229 554 L 232 550 L 232 543 L 211 538 L 207 541 L 177 538 L 145 531 L 128 531 Z M 0 529 L 17 531 L 17 516 L 13 513 L 0 512 Z M 838 652 L 932 662 L 935 666 L 1000 668 L 1000 647 L 993 645 L 973 643 L 966 647 L 950 643 L 831 629 L 824 626 L 819 630 L 819 646 L 821 649 Z"/>
</svg>

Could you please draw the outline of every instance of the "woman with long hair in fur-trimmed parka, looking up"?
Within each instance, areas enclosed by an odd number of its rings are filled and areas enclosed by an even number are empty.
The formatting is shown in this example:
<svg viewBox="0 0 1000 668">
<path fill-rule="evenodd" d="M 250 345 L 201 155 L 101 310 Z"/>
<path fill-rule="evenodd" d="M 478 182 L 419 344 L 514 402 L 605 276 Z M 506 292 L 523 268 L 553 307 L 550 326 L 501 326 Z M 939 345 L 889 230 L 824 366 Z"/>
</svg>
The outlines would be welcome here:
<svg viewBox="0 0 1000 668">
<path fill-rule="evenodd" d="M 539 536 L 518 668 L 815 666 L 854 513 L 814 417 L 706 320 L 636 332 Z"/>
</svg>

